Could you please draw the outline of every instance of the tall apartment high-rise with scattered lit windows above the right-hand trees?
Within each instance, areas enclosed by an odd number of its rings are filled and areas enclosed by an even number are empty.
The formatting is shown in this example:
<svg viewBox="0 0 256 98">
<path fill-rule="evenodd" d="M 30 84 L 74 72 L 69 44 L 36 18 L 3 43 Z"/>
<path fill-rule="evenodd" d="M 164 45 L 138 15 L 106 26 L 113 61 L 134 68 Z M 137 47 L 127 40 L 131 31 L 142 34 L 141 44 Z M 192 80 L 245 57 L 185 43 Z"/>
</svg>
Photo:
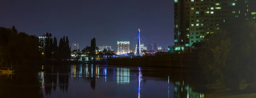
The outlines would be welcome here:
<svg viewBox="0 0 256 98">
<path fill-rule="evenodd" d="M 249 0 L 175 0 L 175 50 L 184 50 L 234 21 L 248 20 Z M 250 0 L 251 1 L 251 0 Z"/>
</svg>

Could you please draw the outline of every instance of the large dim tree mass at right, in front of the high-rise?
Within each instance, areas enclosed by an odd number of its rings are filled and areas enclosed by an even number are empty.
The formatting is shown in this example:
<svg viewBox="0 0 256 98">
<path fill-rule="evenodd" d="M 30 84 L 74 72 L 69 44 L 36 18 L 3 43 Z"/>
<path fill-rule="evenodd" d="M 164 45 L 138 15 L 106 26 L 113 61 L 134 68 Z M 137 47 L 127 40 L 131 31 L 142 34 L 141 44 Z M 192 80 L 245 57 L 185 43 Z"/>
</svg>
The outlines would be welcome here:
<svg viewBox="0 0 256 98">
<path fill-rule="evenodd" d="M 205 37 L 200 63 L 209 82 L 233 90 L 244 82 L 256 88 L 256 22 L 238 22 Z"/>
</svg>

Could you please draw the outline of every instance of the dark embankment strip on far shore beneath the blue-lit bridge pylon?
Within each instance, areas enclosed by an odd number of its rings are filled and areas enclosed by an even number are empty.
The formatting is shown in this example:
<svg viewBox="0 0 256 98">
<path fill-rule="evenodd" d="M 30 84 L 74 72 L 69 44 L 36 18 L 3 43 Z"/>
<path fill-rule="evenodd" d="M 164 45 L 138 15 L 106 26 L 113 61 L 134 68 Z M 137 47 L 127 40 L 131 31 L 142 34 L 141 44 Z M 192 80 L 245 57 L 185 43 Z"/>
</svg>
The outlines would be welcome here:
<svg viewBox="0 0 256 98">
<path fill-rule="evenodd" d="M 165 54 L 133 58 L 109 58 L 108 65 L 199 68 L 198 54 Z"/>
</svg>

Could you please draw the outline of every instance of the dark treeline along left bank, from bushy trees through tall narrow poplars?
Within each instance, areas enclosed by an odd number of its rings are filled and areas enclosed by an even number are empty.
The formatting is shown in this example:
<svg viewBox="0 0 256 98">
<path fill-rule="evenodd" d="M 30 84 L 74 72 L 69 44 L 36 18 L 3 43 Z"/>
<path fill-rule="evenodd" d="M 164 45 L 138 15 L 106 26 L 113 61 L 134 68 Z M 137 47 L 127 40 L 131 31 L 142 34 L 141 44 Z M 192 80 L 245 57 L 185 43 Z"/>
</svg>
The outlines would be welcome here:
<svg viewBox="0 0 256 98">
<path fill-rule="evenodd" d="M 32 66 L 45 60 L 70 59 L 70 47 L 67 37 L 52 39 L 47 33 L 45 41 L 39 41 L 35 35 L 18 32 L 12 28 L 0 27 L 0 66 Z"/>
</svg>

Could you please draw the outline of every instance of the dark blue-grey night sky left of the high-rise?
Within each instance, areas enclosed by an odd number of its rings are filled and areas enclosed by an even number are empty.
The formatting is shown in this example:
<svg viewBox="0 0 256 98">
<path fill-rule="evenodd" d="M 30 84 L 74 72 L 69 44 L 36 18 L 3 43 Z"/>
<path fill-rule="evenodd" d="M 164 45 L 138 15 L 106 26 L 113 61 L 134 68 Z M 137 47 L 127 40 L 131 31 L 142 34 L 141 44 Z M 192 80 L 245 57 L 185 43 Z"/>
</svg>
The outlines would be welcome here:
<svg viewBox="0 0 256 98">
<path fill-rule="evenodd" d="M 173 44 L 173 0 L 0 0 L 0 26 L 15 25 L 31 35 L 52 33 L 59 40 L 68 36 L 79 49 L 131 41 L 135 49 L 137 30 L 142 43 Z"/>
</svg>

